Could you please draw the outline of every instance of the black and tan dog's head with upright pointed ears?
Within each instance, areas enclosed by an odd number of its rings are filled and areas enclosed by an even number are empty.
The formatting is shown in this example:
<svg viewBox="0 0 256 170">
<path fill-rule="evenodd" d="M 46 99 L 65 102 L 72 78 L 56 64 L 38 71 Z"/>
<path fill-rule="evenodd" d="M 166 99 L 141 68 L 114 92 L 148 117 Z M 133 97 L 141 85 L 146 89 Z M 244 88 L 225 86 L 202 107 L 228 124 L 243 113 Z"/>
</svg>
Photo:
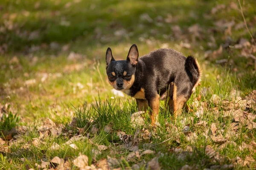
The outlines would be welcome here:
<svg viewBox="0 0 256 170">
<path fill-rule="evenodd" d="M 119 91 L 130 89 L 135 80 L 136 65 L 139 52 L 137 45 L 132 45 L 126 60 L 116 61 L 112 55 L 111 48 L 106 52 L 108 82 Z"/>
</svg>

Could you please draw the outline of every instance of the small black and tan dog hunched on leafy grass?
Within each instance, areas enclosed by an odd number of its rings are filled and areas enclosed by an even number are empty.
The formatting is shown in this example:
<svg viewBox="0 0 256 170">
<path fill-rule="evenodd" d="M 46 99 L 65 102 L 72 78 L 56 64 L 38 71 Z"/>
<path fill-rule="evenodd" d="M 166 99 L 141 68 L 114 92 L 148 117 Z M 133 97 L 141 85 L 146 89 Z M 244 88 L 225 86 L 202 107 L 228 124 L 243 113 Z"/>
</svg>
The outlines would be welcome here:
<svg viewBox="0 0 256 170">
<path fill-rule="evenodd" d="M 139 58 L 137 45 L 132 45 L 127 59 L 116 61 L 111 48 L 106 52 L 108 82 L 136 99 L 139 111 L 150 108 L 151 125 L 158 120 L 160 98 L 172 109 L 175 117 L 200 82 L 201 68 L 192 56 L 160 48 Z"/>
</svg>

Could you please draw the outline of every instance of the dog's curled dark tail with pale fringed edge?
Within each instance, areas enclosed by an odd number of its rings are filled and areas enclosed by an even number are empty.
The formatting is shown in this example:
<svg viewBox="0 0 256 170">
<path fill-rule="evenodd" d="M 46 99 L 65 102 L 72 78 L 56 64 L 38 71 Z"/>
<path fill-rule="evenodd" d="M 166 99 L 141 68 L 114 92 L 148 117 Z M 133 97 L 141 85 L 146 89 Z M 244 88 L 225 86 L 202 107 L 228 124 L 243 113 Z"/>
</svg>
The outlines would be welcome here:
<svg viewBox="0 0 256 170">
<path fill-rule="evenodd" d="M 195 88 L 199 85 L 201 81 L 202 76 L 202 69 L 200 68 L 200 65 L 198 64 L 197 60 L 193 56 L 188 56 L 185 62 L 185 69 L 190 71 L 192 74 L 192 83 L 193 83 L 193 89 L 192 93 L 195 91 Z"/>
</svg>

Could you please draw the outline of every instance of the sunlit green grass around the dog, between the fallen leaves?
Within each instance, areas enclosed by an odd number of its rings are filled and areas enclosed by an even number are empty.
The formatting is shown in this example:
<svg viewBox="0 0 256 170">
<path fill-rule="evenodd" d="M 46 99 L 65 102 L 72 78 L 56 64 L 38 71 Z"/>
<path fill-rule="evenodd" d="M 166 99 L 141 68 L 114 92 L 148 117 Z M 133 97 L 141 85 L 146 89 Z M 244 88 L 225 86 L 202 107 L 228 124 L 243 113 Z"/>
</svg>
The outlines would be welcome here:
<svg viewBox="0 0 256 170">
<path fill-rule="evenodd" d="M 238 5 L 235 0 L 232 2 Z M 212 14 L 212 8 L 220 4 L 224 4 L 225 9 Z M 247 0 L 242 6 L 249 30 L 255 37 L 254 4 L 253 0 Z M 20 133 L 11 136 L 12 140 L 18 138 L 20 142 L 0 145 L 1 169 L 36 169 L 35 163 L 41 164 L 41 160 L 49 161 L 54 156 L 69 161 L 71 168 L 77 169 L 72 160 L 79 152 L 89 157 L 89 165 L 107 156 L 117 158 L 119 164 L 115 167 L 121 169 L 134 164 L 145 169 L 146 163 L 155 156 L 159 157 L 162 169 L 181 169 L 186 164 L 192 169 L 211 168 L 234 164 L 237 156 L 256 159 L 253 150 L 239 149 L 243 142 L 251 144 L 256 137 L 255 129 L 237 122 L 239 128 L 230 135 L 234 119 L 223 116 L 227 110 L 244 109 L 234 104 L 233 90 L 239 92 L 235 98 L 244 99 L 256 89 L 254 61 L 240 57 L 243 49 L 234 48 L 239 38 L 250 40 L 250 35 L 244 27 L 235 28 L 243 18 L 239 9 L 231 7 L 230 1 L 2 0 L 0 13 L 3 16 L 0 18 L 0 107 L 10 104 L 10 111 L 20 118 L 19 122 L 4 127 L 2 124 L 6 121 L 0 123 L 1 130 L 15 127 Z M 215 26 L 215 22 L 222 19 L 235 22 L 231 34 L 226 32 L 227 28 Z M 189 32 L 195 24 L 199 26 L 198 36 L 197 30 Z M 174 26 L 180 27 L 180 34 Z M 230 46 L 223 48 L 221 54 L 204 57 L 206 51 L 216 51 L 230 39 Z M 190 47 L 183 47 L 184 42 Z M 171 113 L 161 102 L 160 127 L 149 126 L 148 114 L 145 114 L 145 125 L 132 126 L 131 114 L 137 112 L 136 103 L 131 97 L 113 95 L 105 75 L 104 59 L 108 47 L 116 59 L 125 59 L 134 43 L 140 56 L 167 45 L 185 56 L 193 54 L 199 60 L 204 73 L 201 86 L 187 102 L 193 111 L 172 122 Z M 71 51 L 78 57 L 68 57 Z M 255 56 L 255 52 L 252 54 Z M 216 64 L 220 59 L 227 59 L 227 63 Z M 217 103 L 212 99 L 215 94 L 220 97 Z M 199 95 L 201 100 L 197 106 L 195 101 Z M 204 116 L 198 118 L 195 113 L 205 105 Z M 255 114 L 253 109 L 247 112 Z M 6 119 L 10 118 L 11 114 Z M 70 125 L 73 118 L 75 126 Z M 63 127 L 62 133 L 67 135 L 53 136 L 49 119 L 57 130 Z M 207 125 L 197 125 L 198 121 L 206 121 Z M 236 144 L 227 144 L 219 150 L 221 143 L 210 137 L 213 123 L 217 128 L 216 136 L 222 135 Z M 183 132 L 188 124 L 189 131 Z M 46 130 L 40 129 L 43 125 L 47 125 Z M 104 130 L 106 125 L 111 127 L 109 133 Z M 73 142 L 77 146 L 73 149 L 65 142 L 80 134 L 76 127 L 83 128 L 81 135 L 86 138 Z M 120 132 L 134 136 L 137 129 L 140 131 L 139 149 L 151 149 L 155 154 L 128 160 L 131 151 L 114 144 L 124 143 L 119 139 Z M 0 136 L 6 139 L 3 134 Z M 36 138 L 41 141 L 38 146 L 33 144 Z M 169 140 L 163 142 L 166 139 Z M 60 148 L 52 150 L 54 143 Z M 148 143 L 153 146 L 148 147 Z M 96 154 L 97 145 L 108 149 Z M 223 159 L 209 156 L 205 149 L 208 145 Z M 190 147 L 192 149 L 188 149 Z M 255 164 L 245 167 L 253 169 Z M 234 164 L 234 169 L 245 167 Z"/>
</svg>

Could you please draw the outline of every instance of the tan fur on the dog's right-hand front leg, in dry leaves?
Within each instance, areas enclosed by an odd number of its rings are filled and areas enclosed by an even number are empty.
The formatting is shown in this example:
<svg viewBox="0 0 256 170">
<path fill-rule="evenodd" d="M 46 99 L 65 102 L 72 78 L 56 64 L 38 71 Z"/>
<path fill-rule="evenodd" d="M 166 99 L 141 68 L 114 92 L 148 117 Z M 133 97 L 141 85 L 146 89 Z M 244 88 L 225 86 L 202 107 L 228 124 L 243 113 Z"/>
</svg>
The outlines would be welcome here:
<svg viewBox="0 0 256 170">
<path fill-rule="evenodd" d="M 150 118 L 151 118 L 151 125 L 155 125 L 155 122 L 158 120 L 158 112 L 159 112 L 159 104 L 160 104 L 160 96 L 157 94 L 157 96 L 152 99 L 148 104 L 149 107 L 151 108 L 150 112 Z"/>
</svg>

